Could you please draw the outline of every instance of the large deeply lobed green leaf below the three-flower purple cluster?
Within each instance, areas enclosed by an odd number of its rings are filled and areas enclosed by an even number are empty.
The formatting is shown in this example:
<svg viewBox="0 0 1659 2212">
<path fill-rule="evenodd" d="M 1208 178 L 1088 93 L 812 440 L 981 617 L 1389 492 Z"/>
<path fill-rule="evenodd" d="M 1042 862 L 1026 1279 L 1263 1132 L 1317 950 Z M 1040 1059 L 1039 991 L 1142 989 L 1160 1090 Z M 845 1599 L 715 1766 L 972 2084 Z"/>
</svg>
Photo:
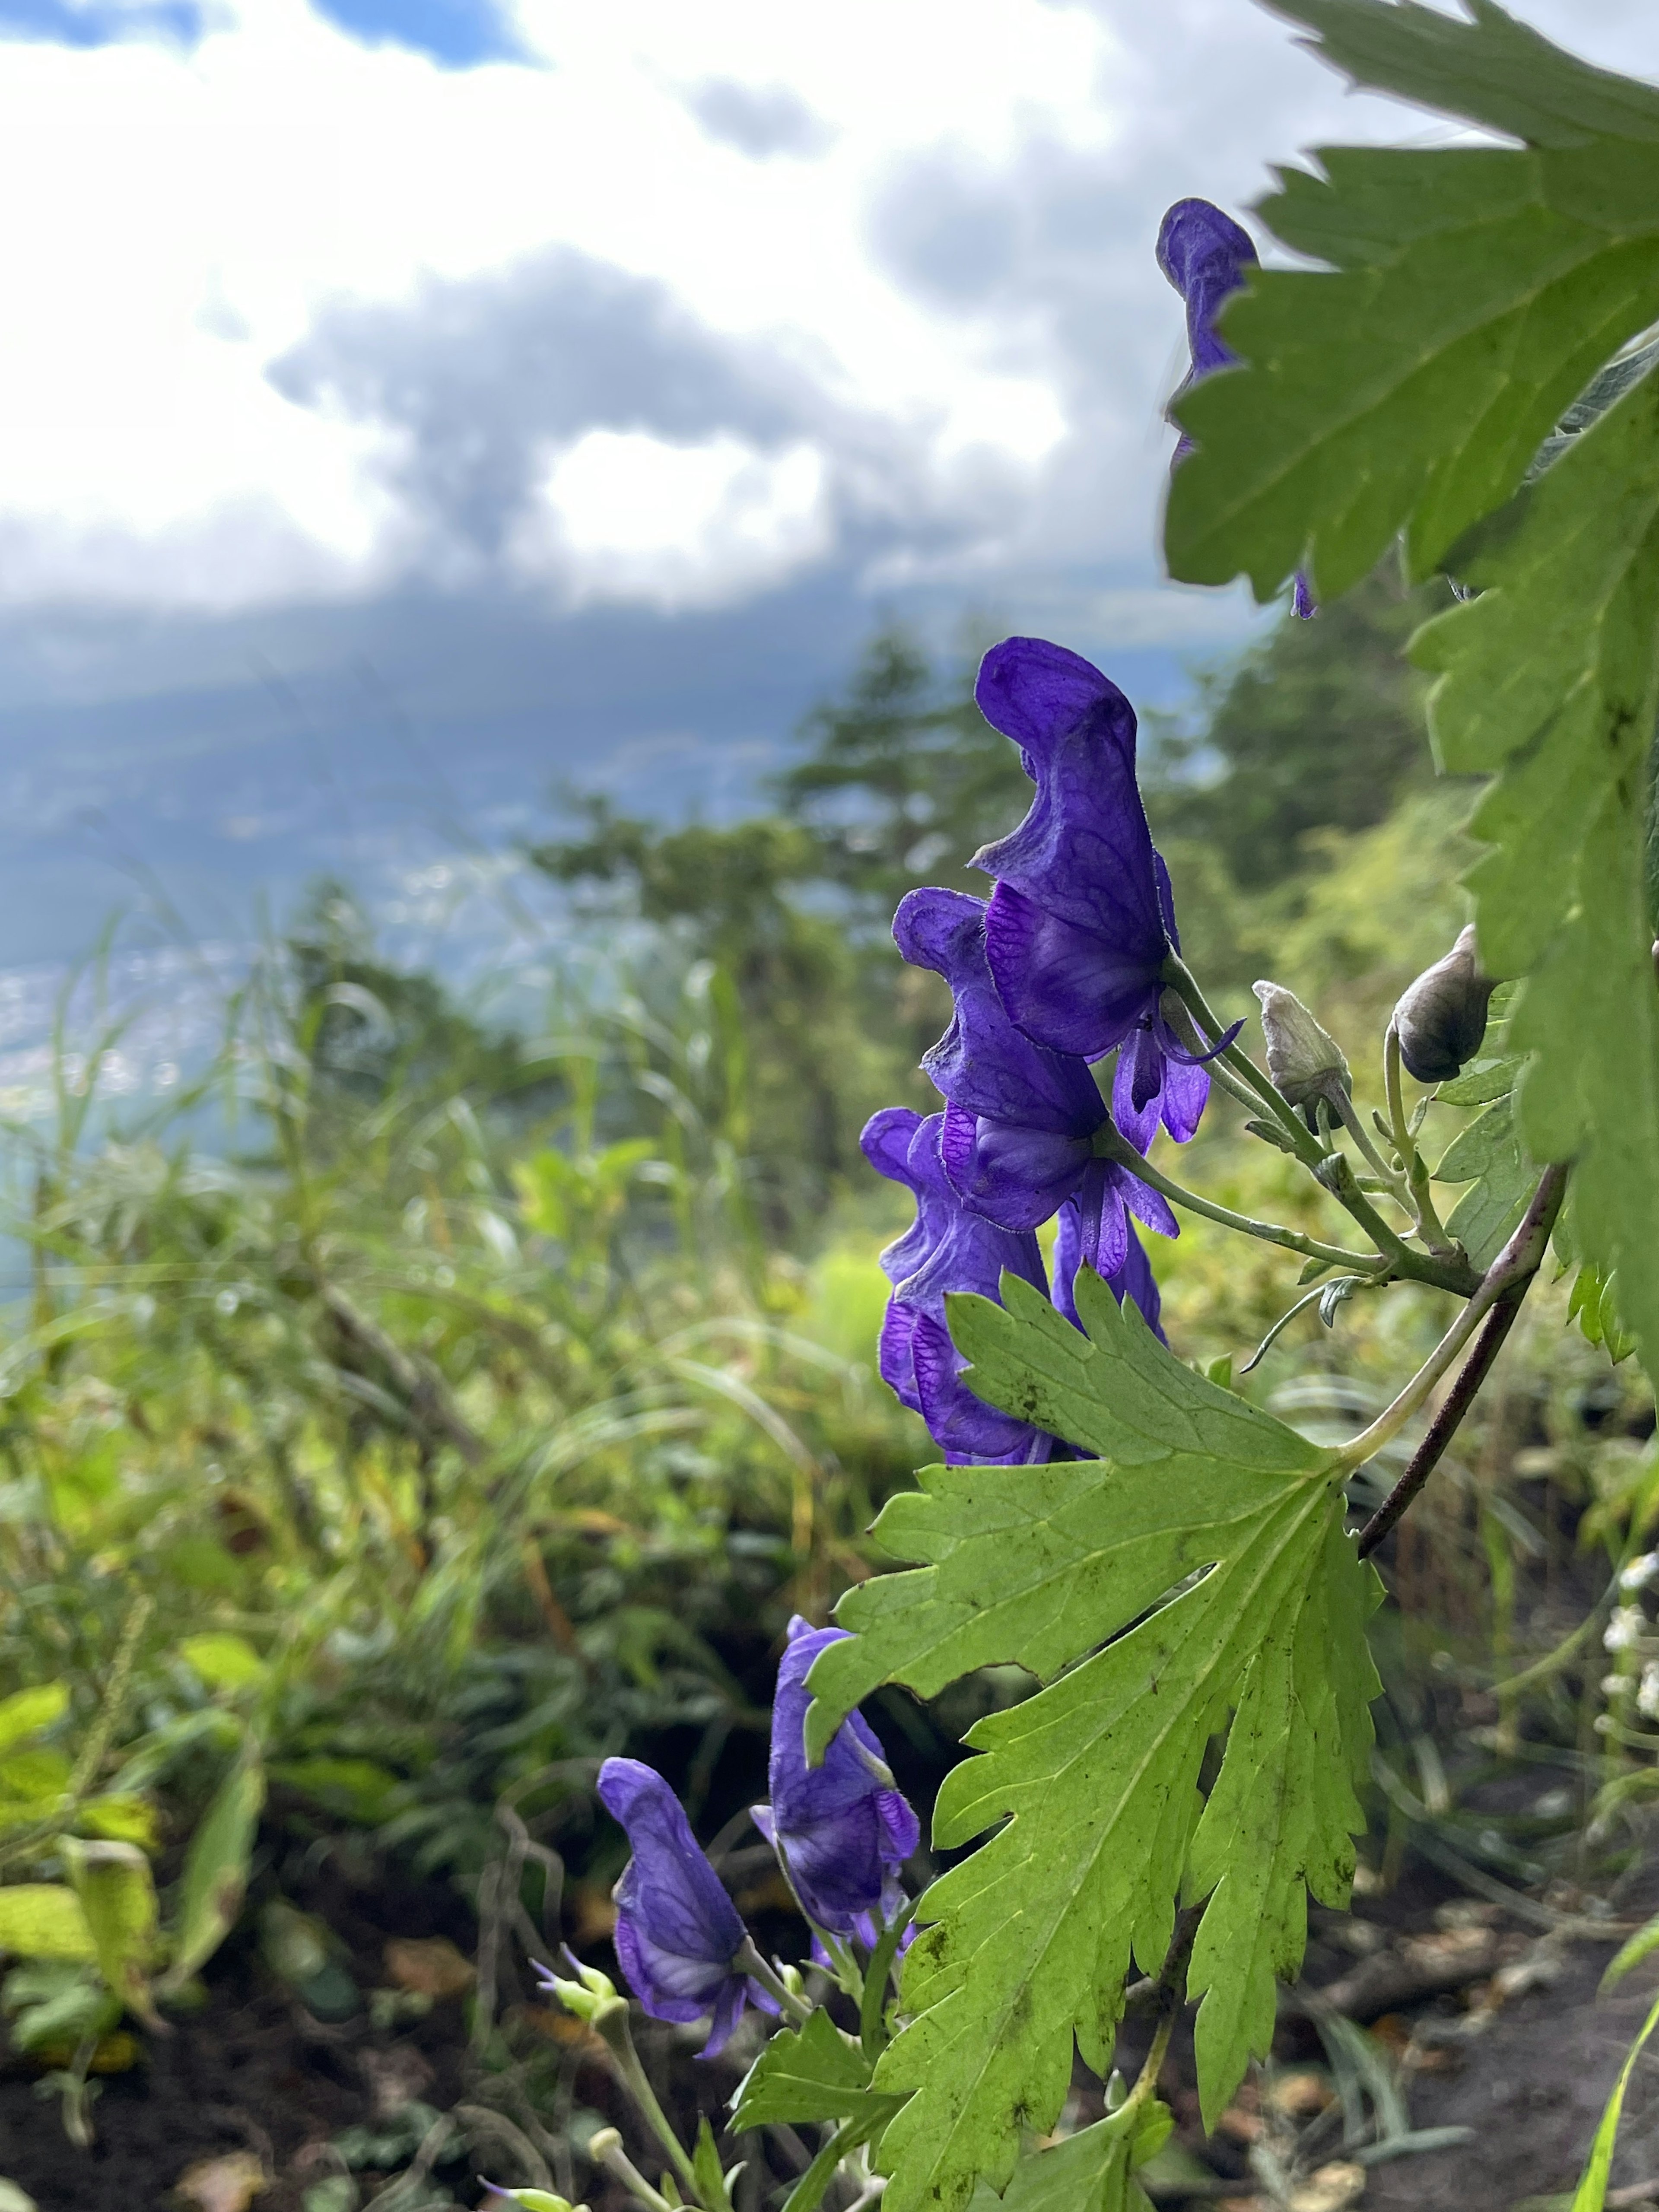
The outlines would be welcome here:
<svg viewBox="0 0 1659 2212">
<path fill-rule="evenodd" d="M 883 1681 L 927 1697 L 1013 1661 L 1048 1683 L 971 1730 L 936 1805 L 945 1849 L 1006 1825 L 918 1909 L 914 2017 L 874 2081 L 911 2093 L 883 2141 L 891 2212 L 1006 2181 L 1020 2130 L 1060 2112 L 1073 2037 L 1106 2070 L 1130 1958 L 1159 1969 L 1181 1896 L 1208 1896 L 1190 1986 L 1214 2117 L 1301 1966 L 1305 1889 L 1347 1902 L 1369 1752 L 1378 1584 L 1343 1533 L 1343 1462 L 1190 1374 L 1086 1270 L 1088 1336 L 1002 1292 L 951 1301 L 973 1389 L 1102 1458 L 931 1469 L 876 1524 L 925 1564 L 852 1590 L 856 1635 L 812 1672 L 814 1752 Z"/>
</svg>

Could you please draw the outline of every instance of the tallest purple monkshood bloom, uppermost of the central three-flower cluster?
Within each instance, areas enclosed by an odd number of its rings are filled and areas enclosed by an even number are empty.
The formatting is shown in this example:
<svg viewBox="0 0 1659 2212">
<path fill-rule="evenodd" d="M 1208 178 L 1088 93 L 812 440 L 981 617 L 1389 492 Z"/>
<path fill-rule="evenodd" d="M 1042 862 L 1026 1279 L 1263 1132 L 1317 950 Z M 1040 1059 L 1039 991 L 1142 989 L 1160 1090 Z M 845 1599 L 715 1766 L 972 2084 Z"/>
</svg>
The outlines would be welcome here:
<svg viewBox="0 0 1659 2212">
<path fill-rule="evenodd" d="M 1203 1060 L 1161 1013 L 1179 951 L 1170 872 L 1135 783 L 1135 708 L 1093 661 L 1009 637 L 980 664 L 980 712 L 1020 745 L 1037 796 L 1020 827 L 973 856 L 998 885 L 984 956 L 998 998 L 1035 1044 L 1082 1060 L 1121 1046 L 1113 1119 L 1144 1152 L 1164 1121 L 1177 1144 L 1210 1097 Z"/>
</svg>

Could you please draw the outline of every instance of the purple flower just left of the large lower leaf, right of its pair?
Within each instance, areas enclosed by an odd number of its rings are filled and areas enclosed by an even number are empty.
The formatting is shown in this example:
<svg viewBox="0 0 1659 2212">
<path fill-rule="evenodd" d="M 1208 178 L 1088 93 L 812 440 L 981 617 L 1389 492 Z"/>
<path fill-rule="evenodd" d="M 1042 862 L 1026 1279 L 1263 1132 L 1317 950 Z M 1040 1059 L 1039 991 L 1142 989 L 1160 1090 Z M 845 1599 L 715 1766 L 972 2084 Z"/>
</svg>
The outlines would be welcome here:
<svg viewBox="0 0 1659 2212">
<path fill-rule="evenodd" d="M 812 1628 L 799 1615 L 790 1621 L 772 1701 L 772 1803 L 754 1805 L 752 1814 L 805 1916 L 834 1936 L 874 1944 L 876 1916 L 887 1918 L 902 1898 L 896 1876 L 920 1829 L 894 1790 L 880 1743 L 856 1712 L 830 1739 L 823 1765 L 807 1765 L 807 1670 L 845 1635 L 845 1628 Z"/>
</svg>

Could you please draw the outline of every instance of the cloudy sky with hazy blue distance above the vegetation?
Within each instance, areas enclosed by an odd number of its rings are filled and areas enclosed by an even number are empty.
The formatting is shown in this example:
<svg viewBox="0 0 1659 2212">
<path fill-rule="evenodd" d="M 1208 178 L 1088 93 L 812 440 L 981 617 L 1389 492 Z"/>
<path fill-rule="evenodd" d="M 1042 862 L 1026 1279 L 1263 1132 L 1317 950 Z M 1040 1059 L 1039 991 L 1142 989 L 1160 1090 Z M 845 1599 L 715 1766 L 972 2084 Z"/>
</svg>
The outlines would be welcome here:
<svg viewBox="0 0 1659 2212">
<path fill-rule="evenodd" d="M 730 814 L 891 615 L 1177 699 L 1159 215 L 1449 135 L 1252 0 L 0 0 L 0 969 Z"/>
</svg>

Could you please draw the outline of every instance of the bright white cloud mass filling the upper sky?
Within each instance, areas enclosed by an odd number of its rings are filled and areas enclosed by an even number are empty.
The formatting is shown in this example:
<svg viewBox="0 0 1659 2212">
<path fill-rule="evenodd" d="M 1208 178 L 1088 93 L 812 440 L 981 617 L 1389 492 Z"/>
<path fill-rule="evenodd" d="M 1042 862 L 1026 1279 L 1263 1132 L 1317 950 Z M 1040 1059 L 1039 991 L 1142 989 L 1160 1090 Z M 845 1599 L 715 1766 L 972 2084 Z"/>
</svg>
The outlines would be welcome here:
<svg viewBox="0 0 1659 2212">
<path fill-rule="evenodd" d="M 1626 66 L 1652 49 L 1635 0 L 1528 13 Z M 223 0 L 195 49 L 0 49 L 0 599 L 228 608 L 500 562 L 564 599 L 714 604 L 836 531 L 878 577 L 1150 577 L 1159 208 L 1400 128 L 1248 0 L 518 0 L 515 24 L 531 62 L 471 71 L 303 0 Z M 520 440 L 502 526 L 462 542 L 418 495 L 431 422 L 396 361 L 369 400 L 272 380 L 343 310 L 440 323 L 555 248 L 657 285 L 779 420 Z M 509 372 L 533 392 L 544 361 Z M 445 425 L 445 465 L 491 434 Z"/>
</svg>

